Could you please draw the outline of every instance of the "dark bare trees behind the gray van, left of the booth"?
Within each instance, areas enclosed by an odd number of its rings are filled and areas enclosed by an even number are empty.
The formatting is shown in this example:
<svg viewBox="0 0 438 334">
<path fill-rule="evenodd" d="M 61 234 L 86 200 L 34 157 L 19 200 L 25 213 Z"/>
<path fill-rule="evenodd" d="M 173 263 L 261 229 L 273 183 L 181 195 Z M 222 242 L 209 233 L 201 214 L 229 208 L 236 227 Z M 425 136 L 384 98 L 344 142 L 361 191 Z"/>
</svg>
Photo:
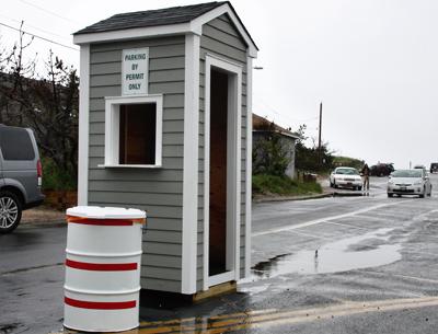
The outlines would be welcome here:
<svg viewBox="0 0 438 334">
<path fill-rule="evenodd" d="M 0 123 L 31 127 L 43 157 L 76 180 L 79 78 L 51 50 L 45 71 L 36 73 L 37 55 L 26 57 L 33 37 L 20 32 L 12 49 L 0 50 Z M 26 60 L 30 59 L 30 60 Z"/>
</svg>

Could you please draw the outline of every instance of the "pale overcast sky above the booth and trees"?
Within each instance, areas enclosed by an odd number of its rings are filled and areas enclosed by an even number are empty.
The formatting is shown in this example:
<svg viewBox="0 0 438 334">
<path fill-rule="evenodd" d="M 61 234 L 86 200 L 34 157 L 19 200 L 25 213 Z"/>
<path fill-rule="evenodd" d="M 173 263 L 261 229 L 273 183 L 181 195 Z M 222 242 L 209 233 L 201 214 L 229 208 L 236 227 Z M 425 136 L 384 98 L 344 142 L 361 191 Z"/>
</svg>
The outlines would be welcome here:
<svg viewBox="0 0 438 334">
<path fill-rule="evenodd" d="M 0 23 L 72 44 L 71 33 L 130 11 L 196 0 L 2 0 Z M 200 2 L 200 1 L 198 1 Z M 203 1 L 207 2 L 207 1 Z M 438 161 L 438 1 L 234 0 L 260 48 L 253 112 L 318 138 L 336 154 L 396 168 Z M 0 44 L 18 33 L 0 25 Z M 53 49 L 78 67 L 79 51 L 35 39 L 44 59 Z"/>
</svg>

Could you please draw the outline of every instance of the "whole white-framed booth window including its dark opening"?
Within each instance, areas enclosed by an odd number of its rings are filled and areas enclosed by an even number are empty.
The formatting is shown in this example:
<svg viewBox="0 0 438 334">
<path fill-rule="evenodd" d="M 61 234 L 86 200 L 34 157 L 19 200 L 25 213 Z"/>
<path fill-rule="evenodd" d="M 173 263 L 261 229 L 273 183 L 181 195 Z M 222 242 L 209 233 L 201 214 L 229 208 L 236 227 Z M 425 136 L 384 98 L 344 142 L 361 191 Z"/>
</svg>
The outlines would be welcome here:
<svg viewBox="0 0 438 334">
<path fill-rule="evenodd" d="M 105 168 L 160 168 L 163 96 L 105 99 Z"/>
</svg>

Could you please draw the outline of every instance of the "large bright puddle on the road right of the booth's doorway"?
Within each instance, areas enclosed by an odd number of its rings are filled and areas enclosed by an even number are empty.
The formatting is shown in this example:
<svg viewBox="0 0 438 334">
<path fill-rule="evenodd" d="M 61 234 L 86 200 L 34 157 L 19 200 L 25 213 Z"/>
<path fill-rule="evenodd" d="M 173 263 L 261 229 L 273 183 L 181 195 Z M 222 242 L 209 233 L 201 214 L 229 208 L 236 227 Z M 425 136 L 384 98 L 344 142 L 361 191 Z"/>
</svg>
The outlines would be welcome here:
<svg viewBox="0 0 438 334">
<path fill-rule="evenodd" d="M 286 274 L 324 274 L 377 267 L 402 258 L 401 244 L 388 244 L 393 229 L 379 229 L 362 235 L 326 243 L 318 253 L 300 251 L 276 256 L 253 267 L 252 280 Z"/>
</svg>

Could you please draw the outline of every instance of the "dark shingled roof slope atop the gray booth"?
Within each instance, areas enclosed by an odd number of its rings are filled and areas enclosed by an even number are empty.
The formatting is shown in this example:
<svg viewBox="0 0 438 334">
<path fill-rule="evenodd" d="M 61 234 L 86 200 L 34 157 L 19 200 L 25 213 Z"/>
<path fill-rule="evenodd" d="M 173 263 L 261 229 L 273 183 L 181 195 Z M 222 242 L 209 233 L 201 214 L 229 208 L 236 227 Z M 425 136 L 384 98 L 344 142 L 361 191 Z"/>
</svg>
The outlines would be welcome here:
<svg viewBox="0 0 438 334">
<path fill-rule="evenodd" d="M 193 5 L 116 14 L 89 25 L 76 32 L 73 35 L 187 23 L 224 3 L 229 3 L 229 1 L 215 1 Z M 229 4 L 231 7 L 231 3 Z"/>
</svg>

